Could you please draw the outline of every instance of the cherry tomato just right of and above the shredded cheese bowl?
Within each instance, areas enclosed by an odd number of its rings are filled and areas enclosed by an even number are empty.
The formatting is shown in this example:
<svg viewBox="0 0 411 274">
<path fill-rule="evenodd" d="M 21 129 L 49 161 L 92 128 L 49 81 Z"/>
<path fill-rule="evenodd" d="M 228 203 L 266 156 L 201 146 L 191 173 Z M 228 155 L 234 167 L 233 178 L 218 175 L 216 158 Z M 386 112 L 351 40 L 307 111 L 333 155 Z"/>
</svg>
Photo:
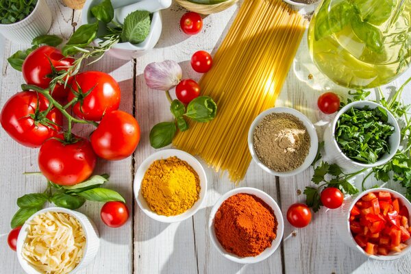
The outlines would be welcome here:
<svg viewBox="0 0 411 274">
<path fill-rule="evenodd" d="M 101 208 L 100 216 L 109 227 L 121 227 L 127 222 L 129 211 L 121 201 L 109 201 Z"/>
</svg>

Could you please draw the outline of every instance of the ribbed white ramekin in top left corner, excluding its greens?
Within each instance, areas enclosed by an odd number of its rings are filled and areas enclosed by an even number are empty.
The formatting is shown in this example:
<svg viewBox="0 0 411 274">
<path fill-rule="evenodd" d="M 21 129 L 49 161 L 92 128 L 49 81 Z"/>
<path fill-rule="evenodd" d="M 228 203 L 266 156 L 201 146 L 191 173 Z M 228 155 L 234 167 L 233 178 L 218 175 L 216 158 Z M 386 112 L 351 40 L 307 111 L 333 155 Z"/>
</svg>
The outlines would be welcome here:
<svg viewBox="0 0 411 274">
<path fill-rule="evenodd" d="M 51 10 L 46 0 L 38 0 L 33 12 L 22 21 L 0 24 L 0 34 L 20 44 L 30 44 L 37 36 L 47 34 L 51 27 Z"/>
</svg>

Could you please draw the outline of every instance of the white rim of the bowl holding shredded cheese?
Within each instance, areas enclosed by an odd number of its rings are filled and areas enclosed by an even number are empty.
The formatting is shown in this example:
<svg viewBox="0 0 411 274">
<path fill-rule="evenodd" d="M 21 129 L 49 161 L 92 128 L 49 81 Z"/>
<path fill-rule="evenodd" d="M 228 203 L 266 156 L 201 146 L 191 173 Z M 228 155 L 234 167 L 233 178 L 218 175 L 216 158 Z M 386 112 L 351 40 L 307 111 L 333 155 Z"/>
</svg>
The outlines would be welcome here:
<svg viewBox="0 0 411 274">
<path fill-rule="evenodd" d="M 77 218 L 77 216 L 75 216 L 75 214 L 83 214 L 83 213 L 82 212 L 77 212 L 77 211 L 74 211 L 74 210 L 69 210 L 68 208 L 60 208 L 60 207 L 56 207 L 56 206 L 51 207 L 51 208 L 43 208 L 42 210 L 38 210 L 38 212 L 34 213 L 32 216 L 29 217 L 29 219 L 27 219 L 27 221 L 25 221 L 24 225 L 20 229 L 20 233 L 18 234 L 17 243 L 16 243 L 16 247 L 17 247 L 16 252 L 17 252 L 18 262 L 20 263 L 20 265 L 24 269 L 24 271 L 26 271 L 27 273 L 42 274 L 39 271 L 37 271 L 33 266 L 31 266 L 29 264 L 29 262 L 27 262 L 23 258 L 23 256 L 21 256 L 21 249 L 23 247 L 23 243 L 25 242 L 25 238 L 27 237 L 27 227 L 29 226 L 29 221 L 32 221 L 35 216 L 37 216 L 39 214 L 42 214 L 42 213 L 45 213 L 45 212 L 62 212 L 62 213 L 69 214 L 69 215 L 73 216 L 80 223 L 80 225 L 82 225 L 84 235 L 86 236 L 86 247 L 84 247 L 82 260 L 80 260 L 80 262 L 77 264 L 77 266 L 75 266 L 75 268 L 71 271 L 71 273 L 74 273 L 75 271 L 77 271 L 77 269 L 79 269 L 79 266 L 82 265 L 82 263 L 84 261 L 84 258 L 86 258 L 86 252 L 88 250 L 88 246 L 89 246 L 90 242 L 88 240 L 89 237 L 88 237 L 88 231 L 86 229 L 86 226 L 84 225 L 84 223 L 81 219 L 79 219 L 79 218 Z M 86 216 L 86 215 L 84 215 L 84 216 Z M 23 239 L 23 236 L 24 236 L 24 239 Z M 33 271 L 36 271 L 36 272 L 33 272 Z"/>
</svg>

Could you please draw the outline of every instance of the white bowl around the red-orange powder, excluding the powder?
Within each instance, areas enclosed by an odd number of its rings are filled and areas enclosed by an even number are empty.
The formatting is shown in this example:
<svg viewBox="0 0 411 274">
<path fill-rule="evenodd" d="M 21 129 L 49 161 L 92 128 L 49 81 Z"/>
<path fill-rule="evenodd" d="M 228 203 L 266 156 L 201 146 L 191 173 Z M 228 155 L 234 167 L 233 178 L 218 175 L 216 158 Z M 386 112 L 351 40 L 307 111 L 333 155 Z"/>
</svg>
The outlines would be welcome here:
<svg viewBox="0 0 411 274">
<path fill-rule="evenodd" d="M 221 204 L 229 197 L 232 197 L 233 195 L 236 195 L 238 193 L 255 195 L 256 197 L 262 199 L 264 203 L 266 203 L 271 209 L 273 209 L 275 218 L 277 219 L 277 236 L 275 237 L 273 242 L 271 242 L 271 247 L 266 248 L 264 251 L 262 251 L 262 253 L 260 253 L 260 255 L 255 257 L 239 257 L 233 253 L 227 252 L 224 249 L 224 247 L 220 244 L 214 231 L 214 216 L 216 215 L 216 212 L 219 210 Z M 223 255 L 225 258 L 233 262 L 238 262 L 239 264 L 254 264 L 256 262 L 261 262 L 262 260 L 269 258 L 277 250 L 284 234 L 284 219 L 282 217 L 282 212 L 279 209 L 279 206 L 270 195 L 266 194 L 266 192 L 259 190 L 257 188 L 236 188 L 225 193 L 225 195 L 223 195 L 219 199 L 219 201 L 217 201 L 215 205 L 212 207 L 210 219 L 208 220 L 208 232 L 210 233 L 210 238 L 212 243 L 214 244 L 214 247 L 216 247 L 219 253 L 221 253 L 221 255 Z"/>
</svg>

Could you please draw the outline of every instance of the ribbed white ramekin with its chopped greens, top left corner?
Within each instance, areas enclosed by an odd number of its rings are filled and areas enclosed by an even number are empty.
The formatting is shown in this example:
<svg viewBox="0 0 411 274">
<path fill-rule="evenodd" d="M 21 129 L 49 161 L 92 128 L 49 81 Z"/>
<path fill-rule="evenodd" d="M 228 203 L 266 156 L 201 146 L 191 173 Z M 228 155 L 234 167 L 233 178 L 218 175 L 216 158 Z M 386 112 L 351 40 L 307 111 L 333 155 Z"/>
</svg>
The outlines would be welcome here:
<svg viewBox="0 0 411 274">
<path fill-rule="evenodd" d="M 21 44 L 30 44 L 51 27 L 46 0 L 0 0 L 0 34 Z"/>
</svg>

